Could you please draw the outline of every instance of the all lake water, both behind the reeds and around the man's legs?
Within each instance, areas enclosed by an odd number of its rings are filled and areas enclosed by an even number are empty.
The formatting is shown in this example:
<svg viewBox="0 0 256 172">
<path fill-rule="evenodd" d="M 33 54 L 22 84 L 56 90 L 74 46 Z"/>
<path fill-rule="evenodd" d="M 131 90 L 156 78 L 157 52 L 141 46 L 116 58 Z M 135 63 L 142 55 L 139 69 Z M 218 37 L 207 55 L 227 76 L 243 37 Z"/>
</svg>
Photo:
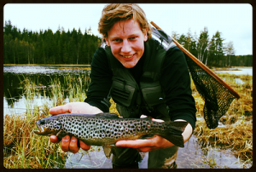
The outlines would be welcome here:
<svg viewBox="0 0 256 172">
<path fill-rule="evenodd" d="M 218 71 L 220 72 L 220 71 Z M 253 75 L 253 69 L 241 68 L 241 71 L 223 71 L 233 74 Z M 25 113 L 26 112 L 26 97 L 20 82 L 24 78 L 29 78 L 31 81 L 38 83 L 37 87 L 42 89 L 49 89 L 54 87 L 50 85 L 52 78 L 61 78 L 65 75 L 80 75 L 88 76 L 90 69 L 78 66 L 4 66 L 3 67 L 3 114 Z M 39 84 L 40 83 L 40 84 Z M 84 85 L 86 90 L 88 85 Z M 65 88 L 64 88 L 65 89 Z M 65 92 L 64 97 L 67 97 L 68 91 Z M 43 106 L 48 103 L 51 104 L 49 96 L 38 95 L 33 99 L 33 105 Z M 65 102 L 69 102 L 68 98 Z M 31 109 L 34 106 L 30 106 Z M 230 150 L 221 150 L 210 147 L 204 149 L 196 142 L 195 136 L 185 144 L 184 148 L 179 148 L 177 155 L 177 168 L 183 169 L 201 169 L 210 168 L 215 164 L 214 168 L 232 168 L 241 169 L 242 163 L 234 156 Z M 210 164 L 212 163 L 212 164 Z M 139 164 L 141 169 L 147 169 L 148 153 Z M 101 151 L 99 152 L 79 152 L 76 154 L 69 153 L 69 158 L 66 162 L 67 169 L 69 168 L 89 168 L 89 169 L 109 169 L 112 168 L 111 159 L 105 157 Z"/>
</svg>

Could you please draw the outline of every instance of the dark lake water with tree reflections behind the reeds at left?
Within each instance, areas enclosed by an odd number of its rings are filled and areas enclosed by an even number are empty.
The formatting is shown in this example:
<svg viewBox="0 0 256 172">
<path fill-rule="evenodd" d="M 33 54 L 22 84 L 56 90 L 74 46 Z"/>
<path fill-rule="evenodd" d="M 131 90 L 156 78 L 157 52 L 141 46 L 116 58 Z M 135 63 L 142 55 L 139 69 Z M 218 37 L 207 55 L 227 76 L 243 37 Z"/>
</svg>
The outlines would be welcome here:
<svg viewBox="0 0 256 172">
<path fill-rule="evenodd" d="M 35 83 L 29 89 L 37 89 L 39 96 L 34 97 L 32 105 L 42 106 L 46 102 L 50 102 L 50 89 L 55 87 L 52 85 L 53 80 L 59 80 L 65 83 L 65 77 L 73 78 L 89 78 L 90 68 L 88 67 L 56 67 L 56 66 L 4 66 L 3 67 L 3 107 L 4 115 L 11 113 L 26 112 L 26 97 L 24 95 L 24 82 Z M 63 86 L 64 97 L 68 95 L 68 86 Z M 83 85 L 86 90 L 88 84 Z M 68 100 L 67 100 L 68 101 Z M 31 109 L 33 108 L 30 107 Z"/>
</svg>

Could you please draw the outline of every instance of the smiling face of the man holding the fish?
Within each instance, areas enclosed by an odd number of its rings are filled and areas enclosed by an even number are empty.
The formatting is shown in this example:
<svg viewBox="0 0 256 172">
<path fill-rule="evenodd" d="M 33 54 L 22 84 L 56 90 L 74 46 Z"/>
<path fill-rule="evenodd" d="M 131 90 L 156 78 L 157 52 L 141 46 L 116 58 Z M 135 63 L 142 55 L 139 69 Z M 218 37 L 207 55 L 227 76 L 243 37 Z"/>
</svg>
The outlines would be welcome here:
<svg viewBox="0 0 256 172">
<path fill-rule="evenodd" d="M 105 40 L 113 56 L 123 66 L 131 68 L 143 56 L 144 42 L 147 39 L 147 31 L 143 33 L 138 22 L 131 19 L 116 22 L 108 31 L 108 38 Z"/>
</svg>

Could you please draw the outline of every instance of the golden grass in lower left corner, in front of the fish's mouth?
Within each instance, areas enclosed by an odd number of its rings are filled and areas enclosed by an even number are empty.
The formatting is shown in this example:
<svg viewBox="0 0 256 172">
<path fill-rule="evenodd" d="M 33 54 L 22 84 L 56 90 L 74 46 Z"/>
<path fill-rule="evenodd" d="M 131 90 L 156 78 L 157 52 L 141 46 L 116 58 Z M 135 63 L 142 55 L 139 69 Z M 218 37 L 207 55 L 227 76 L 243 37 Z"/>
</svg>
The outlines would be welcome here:
<svg viewBox="0 0 256 172">
<path fill-rule="evenodd" d="M 29 84 L 28 84 L 29 85 Z M 32 103 L 36 91 L 26 87 L 26 100 Z M 51 144 L 49 138 L 33 133 L 35 122 L 48 115 L 48 109 L 39 112 L 38 108 L 26 106 L 26 114 L 4 116 L 3 125 L 3 165 L 7 169 L 62 168 L 65 153 L 58 145 Z"/>
</svg>

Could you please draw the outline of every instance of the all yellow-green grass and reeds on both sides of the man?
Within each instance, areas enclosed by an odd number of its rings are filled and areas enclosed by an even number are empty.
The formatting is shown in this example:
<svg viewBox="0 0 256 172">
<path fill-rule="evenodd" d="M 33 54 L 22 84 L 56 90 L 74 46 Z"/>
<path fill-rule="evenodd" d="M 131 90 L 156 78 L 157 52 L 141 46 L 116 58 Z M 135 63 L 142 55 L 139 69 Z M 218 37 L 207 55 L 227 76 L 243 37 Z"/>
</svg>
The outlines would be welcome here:
<svg viewBox="0 0 256 172">
<path fill-rule="evenodd" d="M 191 88 L 196 101 L 197 122 L 193 135 L 197 138 L 197 144 L 202 149 L 229 149 L 239 161 L 244 163 L 241 168 L 249 168 L 253 165 L 253 76 L 231 75 L 218 73 L 232 89 L 241 95 L 239 100 L 233 100 L 230 109 L 224 117 L 220 118 L 222 125 L 216 129 L 208 129 L 203 119 L 202 111 L 204 101 L 195 89 L 192 82 Z M 40 118 L 49 115 L 49 108 L 65 104 L 63 85 L 68 85 L 69 102 L 84 101 L 86 97 L 84 84 L 90 81 L 88 78 L 73 78 L 65 76 L 65 83 L 58 79 L 52 80 L 50 90 L 51 102 L 44 106 L 37 106 L 33 99 L 44 93 L 43 98 L 47 99 L 44 87 L 38 88 L 35 83 L 25 79 L 20 81 L 24 88 L 26 97 L 26 114 L 9 114 L 4 117 L 3 126 L 3 165 L 7 169 L 56 169 L 65 168 L 67 153 L 61 151 L 59 144 L 53 144 L 48 137 L 42 137 L 33 133 L 37 129 L 36 122 Z M 243 83 L 236 83 L 235 79 L 240 78 Z M 42 97 L 42 95 L 40 95 Z M 118 113 L 115 103 L 111 100 L 110 112 Z M 34 106 L 30 109 L 31 105 Z M 90 151 L 95 151 L 94 146 Z M 211 168 L 218 168 L 216 164 Z M 249 167 L 248 167 L 249 166 Z"/>
</svg>

